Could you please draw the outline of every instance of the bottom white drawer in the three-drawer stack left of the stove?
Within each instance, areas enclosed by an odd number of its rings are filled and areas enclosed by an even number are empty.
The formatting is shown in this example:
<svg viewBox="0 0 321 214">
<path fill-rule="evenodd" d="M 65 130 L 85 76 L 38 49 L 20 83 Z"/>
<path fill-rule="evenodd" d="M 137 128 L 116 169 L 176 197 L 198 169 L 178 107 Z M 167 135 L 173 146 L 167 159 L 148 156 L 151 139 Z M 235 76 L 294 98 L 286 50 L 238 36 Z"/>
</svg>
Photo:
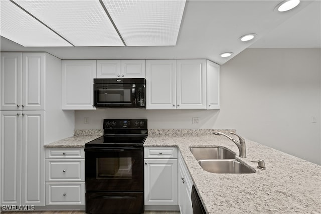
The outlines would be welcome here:
<svg viewBox="0 0 321 214">
<path fill-rule="evenodd" d="M 84 205 L 85 183 L 46 183 L 46 205 Z"/>
</svg>

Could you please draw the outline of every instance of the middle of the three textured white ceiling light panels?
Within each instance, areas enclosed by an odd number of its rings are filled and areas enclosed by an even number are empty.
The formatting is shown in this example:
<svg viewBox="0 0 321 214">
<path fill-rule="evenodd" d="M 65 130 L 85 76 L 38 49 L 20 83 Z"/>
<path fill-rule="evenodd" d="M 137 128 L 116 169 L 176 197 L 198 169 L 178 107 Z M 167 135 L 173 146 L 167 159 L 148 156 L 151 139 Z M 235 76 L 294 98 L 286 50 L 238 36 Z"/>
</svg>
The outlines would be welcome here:
<svg viewBox="0 0 321 214">
<path fill-rule="evenodd" d="M 15 2 L 74 46 L 124 46 L 98 0 Z"/>
</svg>

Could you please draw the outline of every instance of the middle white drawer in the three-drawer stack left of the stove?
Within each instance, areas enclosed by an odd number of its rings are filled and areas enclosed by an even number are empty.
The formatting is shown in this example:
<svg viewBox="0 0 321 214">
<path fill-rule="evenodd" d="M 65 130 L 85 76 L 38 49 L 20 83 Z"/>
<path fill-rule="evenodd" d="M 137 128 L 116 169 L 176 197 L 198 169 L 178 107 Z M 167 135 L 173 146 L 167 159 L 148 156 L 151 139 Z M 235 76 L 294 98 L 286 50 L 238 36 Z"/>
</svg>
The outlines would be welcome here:
<svg viewBox="0 0 321 214">
<path fill-rule="evenodd" d="M 85 181 L 85 160 L 46 160 L 46 182 Z"/>
</svg>

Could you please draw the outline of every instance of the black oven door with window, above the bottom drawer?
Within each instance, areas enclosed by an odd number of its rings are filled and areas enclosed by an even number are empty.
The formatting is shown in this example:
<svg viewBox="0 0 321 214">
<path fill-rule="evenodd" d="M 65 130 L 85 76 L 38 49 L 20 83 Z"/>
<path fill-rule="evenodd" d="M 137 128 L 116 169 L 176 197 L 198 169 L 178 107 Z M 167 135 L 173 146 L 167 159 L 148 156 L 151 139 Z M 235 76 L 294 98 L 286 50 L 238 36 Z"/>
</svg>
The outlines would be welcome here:
<svg viewBox="0 0 321 214">
<path fill-rule="evenodd" d="M 85 148 L 86 192 L 143 191 L 143 147 Z"/>
</svg>

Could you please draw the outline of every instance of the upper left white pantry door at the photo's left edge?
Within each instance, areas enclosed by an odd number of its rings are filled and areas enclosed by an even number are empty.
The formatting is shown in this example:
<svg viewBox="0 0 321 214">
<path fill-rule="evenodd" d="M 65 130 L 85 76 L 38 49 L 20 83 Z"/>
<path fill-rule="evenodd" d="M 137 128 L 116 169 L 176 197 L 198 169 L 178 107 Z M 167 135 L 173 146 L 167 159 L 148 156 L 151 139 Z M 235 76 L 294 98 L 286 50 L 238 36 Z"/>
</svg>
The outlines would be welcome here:
<svg viewBox="0 0 321 214">
<path fill-rule="evenodd" d="M 0 110 L 21 109 L 22 54 L 1 53 Z"/>
</svg>

